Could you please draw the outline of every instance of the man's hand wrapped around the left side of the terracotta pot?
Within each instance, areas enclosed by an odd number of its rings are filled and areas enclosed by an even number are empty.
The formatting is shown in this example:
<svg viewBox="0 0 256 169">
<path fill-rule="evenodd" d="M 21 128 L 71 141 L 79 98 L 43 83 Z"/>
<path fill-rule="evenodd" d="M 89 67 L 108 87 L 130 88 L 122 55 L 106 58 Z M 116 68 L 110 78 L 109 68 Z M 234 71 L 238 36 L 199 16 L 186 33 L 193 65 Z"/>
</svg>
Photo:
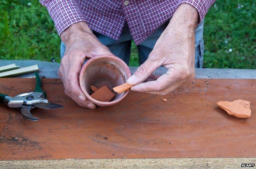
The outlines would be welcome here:
<svg viewBox="0 0 256 169">
<path fill-rule="evenodd" d="M 79 22 L 71 25 L 61 34 L 66 50 L 59 67 L 59 77 L 64 84 L 65 94 L 78 105 L 85 108 L 95 108 L 89 101 L 79 84 L 79 74 L 86 58 L 101 54 L 113 55 L 91 32 L 87 23 Z"/>
</svg>

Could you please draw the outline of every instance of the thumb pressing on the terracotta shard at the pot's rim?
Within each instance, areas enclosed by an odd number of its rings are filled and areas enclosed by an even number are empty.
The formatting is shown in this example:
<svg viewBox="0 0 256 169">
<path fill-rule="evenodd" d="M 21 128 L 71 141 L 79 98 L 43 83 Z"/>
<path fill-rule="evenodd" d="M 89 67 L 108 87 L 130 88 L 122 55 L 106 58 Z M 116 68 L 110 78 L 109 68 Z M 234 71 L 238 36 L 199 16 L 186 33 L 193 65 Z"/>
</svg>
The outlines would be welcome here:
<svg viewBox="0 0 256 169">
<path fill-rule="evenodd" d="M 158 61 L 148 58 L 139 68 L 134 72 L 127 82 L 130 85 L 136 85 L 148 79 L 148 77 L 159 67 Z"/>
</svg>

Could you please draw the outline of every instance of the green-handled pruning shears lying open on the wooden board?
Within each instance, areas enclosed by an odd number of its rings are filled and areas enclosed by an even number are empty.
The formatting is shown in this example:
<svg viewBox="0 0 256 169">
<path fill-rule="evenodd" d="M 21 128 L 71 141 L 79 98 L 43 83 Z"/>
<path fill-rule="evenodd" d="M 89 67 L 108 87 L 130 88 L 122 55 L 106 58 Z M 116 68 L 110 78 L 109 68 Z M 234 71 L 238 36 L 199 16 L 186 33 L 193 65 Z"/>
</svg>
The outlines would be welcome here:
<svg viewBox="0 0 256 169">
<path fill-rule="evenodd" d="M 62 108 L 59 104 L 49 103 L 46 99 L 46 92 L 41 88 L 41 79 L 39 74 L 35 72 L 37 84 L 34 92 L 21 93 L 15 97 L 10 97 L 0 93 L 0 103 L 7 104 L 10 108 L 21 108 L 21 114 L 31 121 L 38 121 L 39 118 L 34 117 L 30 110 L 33 108 L 56 109 Z"/>
</svg>

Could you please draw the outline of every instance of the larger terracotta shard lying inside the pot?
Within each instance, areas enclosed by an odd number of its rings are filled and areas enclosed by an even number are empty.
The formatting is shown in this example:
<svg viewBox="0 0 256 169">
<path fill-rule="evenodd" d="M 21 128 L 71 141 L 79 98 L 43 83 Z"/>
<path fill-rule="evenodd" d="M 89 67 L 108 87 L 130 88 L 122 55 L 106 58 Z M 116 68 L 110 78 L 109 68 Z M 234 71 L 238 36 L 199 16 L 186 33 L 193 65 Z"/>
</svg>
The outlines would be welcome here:
<svg viewBox="0 0 256 169">
<path fill-rule="evenodd" d="M 109 90 L 107 86 L 103 86 L 96 90 L 93 94 L 91 94 L 91 97 L 98 100 L 98 101 L 110 101 L 112 100 L 116 95 Z"/>
</svg>

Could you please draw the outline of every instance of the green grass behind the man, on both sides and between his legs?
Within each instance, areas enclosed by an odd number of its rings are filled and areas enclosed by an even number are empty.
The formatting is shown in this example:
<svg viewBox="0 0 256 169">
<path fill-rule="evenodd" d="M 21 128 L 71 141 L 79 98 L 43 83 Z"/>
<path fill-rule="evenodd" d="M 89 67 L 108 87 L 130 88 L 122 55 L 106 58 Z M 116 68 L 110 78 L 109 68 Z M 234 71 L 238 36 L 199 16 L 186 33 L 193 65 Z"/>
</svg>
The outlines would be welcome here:
<svg viewBox="0 0 256 169">
<path fill-rule="evenodd" d="M 0 59 L 60 61 L 60 38 L 38 0 L 1 0 L 0 9 Z M 255 2 L 217 1 L 205 18 L 204 42 L 204 67 L 255 69 Z M 139 65 L 134 43 L 130 65 Z"/>
</svg>

